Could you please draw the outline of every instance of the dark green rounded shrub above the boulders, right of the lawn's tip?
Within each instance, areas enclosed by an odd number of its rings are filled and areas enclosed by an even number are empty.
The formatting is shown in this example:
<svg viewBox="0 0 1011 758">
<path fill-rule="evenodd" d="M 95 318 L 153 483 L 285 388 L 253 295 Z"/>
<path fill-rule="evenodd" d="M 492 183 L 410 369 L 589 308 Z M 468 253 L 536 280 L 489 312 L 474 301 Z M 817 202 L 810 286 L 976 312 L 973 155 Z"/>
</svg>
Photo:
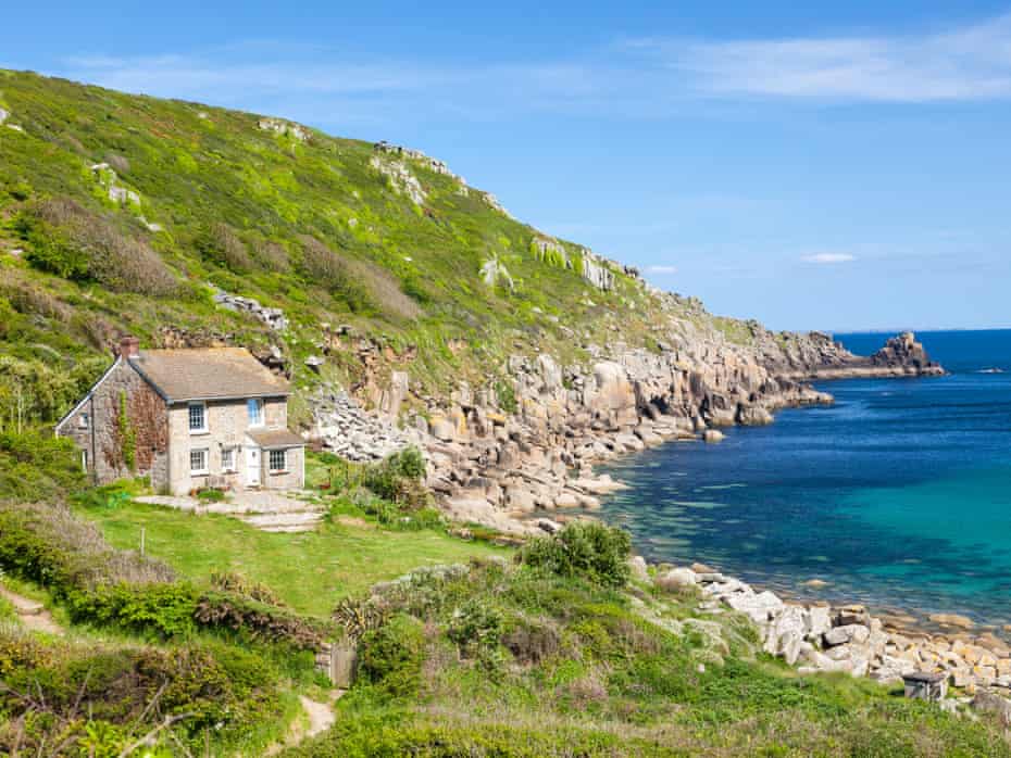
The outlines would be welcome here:
<svg viewBox="0 0 1011 758">
<path fill-rule="evenodd" d="M 582 577 L 604 586 L 628 581 L 632 539 L 622 529 L 576 521 L 557 534 L 528 542 L 520 560 L 562 577 Z"/>
</svg>

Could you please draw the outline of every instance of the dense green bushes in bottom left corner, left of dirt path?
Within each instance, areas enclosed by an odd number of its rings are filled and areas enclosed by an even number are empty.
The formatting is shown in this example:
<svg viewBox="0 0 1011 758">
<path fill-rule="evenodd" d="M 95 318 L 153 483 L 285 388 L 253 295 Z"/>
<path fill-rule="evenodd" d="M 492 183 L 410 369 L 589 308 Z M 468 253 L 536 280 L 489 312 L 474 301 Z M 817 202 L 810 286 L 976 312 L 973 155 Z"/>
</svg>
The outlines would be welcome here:
<svg viewBox="0 0 1011 758">
<path fill-rule="evenodd" d="M 276 718 L 280 706 L 271 660 L 209 643 L 42 645 L 0 627 L 0 677 L 3 755 L 127 755 L 165 716 L 179 717 L 171 729 L 178 742 L 158 741 L 164 747 L 143 755 L 176 755 L 179 745 L 199 753 L 209 733 L 240 742 L 251 723 Z"/>
</svg>

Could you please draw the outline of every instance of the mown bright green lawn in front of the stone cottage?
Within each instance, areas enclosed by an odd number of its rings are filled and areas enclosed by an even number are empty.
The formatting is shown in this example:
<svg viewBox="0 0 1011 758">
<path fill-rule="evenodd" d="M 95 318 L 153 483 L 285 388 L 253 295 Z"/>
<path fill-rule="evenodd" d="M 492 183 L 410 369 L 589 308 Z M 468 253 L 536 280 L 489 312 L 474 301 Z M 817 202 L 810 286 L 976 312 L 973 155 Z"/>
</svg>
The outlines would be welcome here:
<svg viewBox="0 0 1011 758">
<path fill-rule="evenodd" d="M 419 566 L 508 555 L 504 548 L 432 530 L 387 531 L 365 521 L 274 534 L 225 516 L 194 516 L 139 503 L 78 513 L 124 549 L 137 549 L 145 529 L 147 554 L 195 582 L 207 582 L 212 571 L 236 571 L 266 584 L 294 609 L 317 617 L 328 616 L 341 597 Z"/>
</svg>

